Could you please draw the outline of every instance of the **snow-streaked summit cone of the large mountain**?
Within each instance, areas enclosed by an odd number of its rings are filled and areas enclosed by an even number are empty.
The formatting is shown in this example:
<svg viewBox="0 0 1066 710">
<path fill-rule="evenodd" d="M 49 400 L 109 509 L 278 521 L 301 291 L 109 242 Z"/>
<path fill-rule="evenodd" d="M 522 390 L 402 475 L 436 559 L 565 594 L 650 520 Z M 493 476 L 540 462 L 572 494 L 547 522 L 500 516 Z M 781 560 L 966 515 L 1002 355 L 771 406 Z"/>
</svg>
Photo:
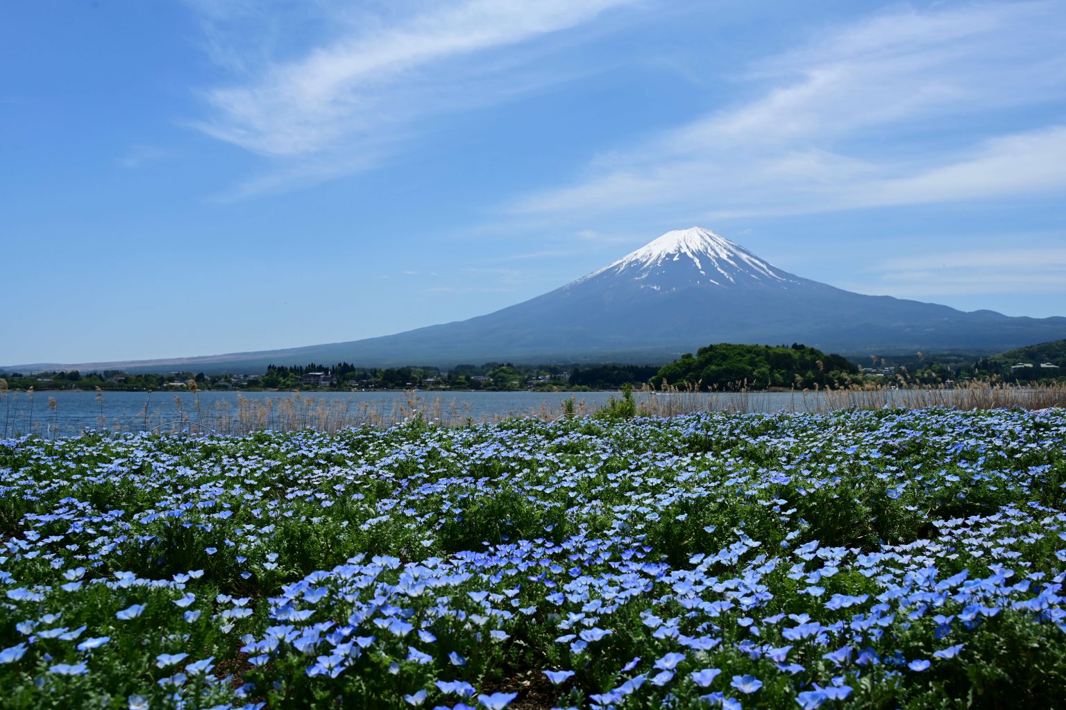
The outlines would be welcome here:
<svg viewBox="0 0 1066 710">
<path fill-rule="evenodd" d="M 698 284 L 785 285 L 795 282 L 795 277 L 788 271 L 702 227 L 666 232 L 576 283 L 604 275 L 642 281 L 642 287 L 655 291 L 676 291 Z"/>
</svg>

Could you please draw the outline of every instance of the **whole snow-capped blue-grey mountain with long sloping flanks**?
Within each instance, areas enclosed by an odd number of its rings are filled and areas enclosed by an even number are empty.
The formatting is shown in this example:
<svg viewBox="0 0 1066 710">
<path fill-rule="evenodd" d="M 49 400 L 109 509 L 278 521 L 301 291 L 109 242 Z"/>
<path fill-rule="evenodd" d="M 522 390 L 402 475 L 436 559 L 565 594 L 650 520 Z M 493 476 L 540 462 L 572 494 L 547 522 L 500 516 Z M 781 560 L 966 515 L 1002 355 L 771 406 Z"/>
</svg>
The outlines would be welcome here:
<svg viewBox="0 0 1066 710">
<path fill-rule="evenodd" d="M 554 291 L 467 320 L 284 350 L 20 367 L 219 373 L 340 361 L 446 367 L 490 361 L 663 363 L 711 343 L 804 343 L 865 358 L 937 349 L 992 353 L 1062 337 L 1064 317 L 964 312 L 856 294 L 785 271 L 693 227 L 667 232 Z"/>
</svg>

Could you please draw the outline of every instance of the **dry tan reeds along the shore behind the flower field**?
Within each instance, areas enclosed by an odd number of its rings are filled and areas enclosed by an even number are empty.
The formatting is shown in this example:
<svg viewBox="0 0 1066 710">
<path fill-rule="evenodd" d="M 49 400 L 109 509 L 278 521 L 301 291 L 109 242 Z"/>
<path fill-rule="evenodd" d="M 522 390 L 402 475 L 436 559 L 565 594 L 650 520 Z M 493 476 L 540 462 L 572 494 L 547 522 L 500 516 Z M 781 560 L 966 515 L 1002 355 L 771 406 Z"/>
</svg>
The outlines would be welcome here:
<svg viewBox="0 0 1066 710">
<path fill-rule="evenodd" d="M 741 385 L 743 383 L 740 383 Z M 183 406 L 181 398 L 174 396 L 174 406 L 166 409 L 150 409 L 151 393 L 145 398 L 143 408 L 128 420 L 107 422 L 101 410 L 98 429 L 124 431 L 139 429 L 154 433 L 183 433 L 190 435 L 244 435 L 255 431 L 300 431 L 312 429 L 336 432 L 349 427 L 371 425 L 388 427 L 405 422 L 421 420 L 446 427 L 470 426 L 473 424 L 495 424 L 514 416 L 550 422 L 568 416 L 586 416 L 600 412 L 604 404 L 579 399 L 580 394 L 568 401 L 560 393 L 559 401 L 543 401 L 536 409 L 527 412 L 494 413 L 474 416 L 469 402 L 451 400 L 446 403 L 440 396 L 424 397 L 417 392 L 404 392 L 391 400 L 359 401 L 348 399 L 325 399 L 310 394 L 293 392 L 277 397 L 251 398 L 238 393 L 236 402 L 222 401 L 200 407 L 198 393 L 193 408 Z M 5 410 L 15 403 L 14 416 L 5 411 L 5 429 L 9 423 L 12 435 L 18 433 L 56 433 L 56 411 L 52 401 L 52 427 L 44 432 L 41 423 L 33 422 L 33 395 L 25 393 L 16 399 L 17 393 L 4 392 Z M 768 393 L 740 386 L 734 392 L 699 392 L 695 386 L 665 386 L 660 390 L 644 387 L 633 393 L 636 414 L 640 416 L 669 417 L 693 412 L 730 412 L 737 414 L 758 412 L 807 412 L 827 413 L 840 410 L 879 410 L 887 408 L 925 409 L 932 407 L 986 410 L 1017 407 L 1028 410 L 1043 410 L 1066 407 L 1066 384 L 1047 386 L 1014 386 L 972 382 L 956 387 L 909 387 L 859 386 L 826 390 L 792 390 Z M 7 399 L 7 398 L 11 399 Z M 100 397 L 98 394 L 97 397 Z M 51 399 L 51 398 L 50 398 Z M 572 409 L 571 409 L 572 408 Z M 21 425 L 21 426 L 20 426 Z M 29 426 L 27 426 L 29 425 Z M 6 434 L 5 434 L 6 435 Z"/>
</svg>

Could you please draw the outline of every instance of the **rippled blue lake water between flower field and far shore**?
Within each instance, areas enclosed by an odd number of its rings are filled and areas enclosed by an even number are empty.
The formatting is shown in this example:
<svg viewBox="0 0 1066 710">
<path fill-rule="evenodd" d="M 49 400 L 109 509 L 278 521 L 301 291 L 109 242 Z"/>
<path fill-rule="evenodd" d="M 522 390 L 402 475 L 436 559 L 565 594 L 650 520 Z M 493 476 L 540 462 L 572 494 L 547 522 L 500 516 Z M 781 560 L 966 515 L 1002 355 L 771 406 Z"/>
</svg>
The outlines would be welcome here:
<svg viewBox="0 0 1066 710">
<path fill-rule="evenodd" d="M 204 430 L 245 433 L 258 429 L 334 431 L 364 423 L 388 425 L 421 412 L 446 424 L 491 422 L 511 415 L 555 418 L 575 398 L 578 413 L 602 407 L 617 392 L 37 392 L 0 395 L 2 433 L 32 431 L 41 436 L 72 435 L 85 429 L 116 431 Z M 639 402 L 658 414 L 685 411 L 818 411 L 815 393 L 704 393 L 648 395 Z M 49 399 L 53 400 L 54 407 Z"/>
</svg>

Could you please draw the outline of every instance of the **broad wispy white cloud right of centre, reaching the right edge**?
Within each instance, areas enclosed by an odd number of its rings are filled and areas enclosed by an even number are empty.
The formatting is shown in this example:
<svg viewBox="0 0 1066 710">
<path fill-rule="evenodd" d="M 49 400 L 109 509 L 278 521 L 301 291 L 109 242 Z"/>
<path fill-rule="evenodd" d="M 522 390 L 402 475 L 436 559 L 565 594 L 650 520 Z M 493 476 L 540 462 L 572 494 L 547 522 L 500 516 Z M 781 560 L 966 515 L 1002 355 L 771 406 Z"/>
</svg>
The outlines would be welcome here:
<svg viewBox="0 0 1066 710">
<path fill-rule="evenodd" d="M 510 210 L 734 217 L 1066 188 L 1066 126 L 1013 123 L 1019 109 L 1063 106 L 1055 3 L 881 14 L 740 81 L 756 98 L 597 158 L 577 182 Z M 989 133 L 989 117 L 1010 130 Z"/>
</svg>

